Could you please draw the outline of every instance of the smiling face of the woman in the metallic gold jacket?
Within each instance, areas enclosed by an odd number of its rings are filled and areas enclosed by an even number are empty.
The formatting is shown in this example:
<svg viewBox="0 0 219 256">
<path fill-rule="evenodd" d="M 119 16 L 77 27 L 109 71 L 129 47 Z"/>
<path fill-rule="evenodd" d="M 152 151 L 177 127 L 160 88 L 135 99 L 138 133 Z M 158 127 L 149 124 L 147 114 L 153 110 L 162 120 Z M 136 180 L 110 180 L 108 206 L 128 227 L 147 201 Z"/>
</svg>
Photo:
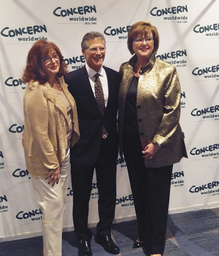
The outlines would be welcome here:
<svg viewBox="0 0 219 256">
<path fill-rule="evenodd" d="M 144 39 L 136 41 L 136 39 L 141 38 Z M 152 32 L 148 32 L 147 35 L 139 34 L 133 41 L 133 50 L 136 53 L 138 58 L 144 57 L 146 60 L 149 59 L 151 56 L 153 49 L 154 49 L 154 40 L 148 42 L 146 41 L 147 38 L 153 38 Z"/>
</svg>

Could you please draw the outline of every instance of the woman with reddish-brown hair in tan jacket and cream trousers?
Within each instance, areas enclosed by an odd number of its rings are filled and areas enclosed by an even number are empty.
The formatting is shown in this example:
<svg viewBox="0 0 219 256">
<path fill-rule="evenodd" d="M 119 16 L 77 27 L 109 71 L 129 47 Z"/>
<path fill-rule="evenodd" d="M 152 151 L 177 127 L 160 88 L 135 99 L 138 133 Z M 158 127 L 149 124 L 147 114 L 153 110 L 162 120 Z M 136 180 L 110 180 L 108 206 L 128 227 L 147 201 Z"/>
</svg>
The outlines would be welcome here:
<svg viewBox="0 0 219 256">
<path fill-rule="evenodd" d="M 23 146 L 37 202 L 43 212 L 43 255 L 61 256 L 61 233 L 70 174 L 69 147 L 79 139 L 77 109 L 63 75 L 59 48 L 37 41 L 29 51 L 23 80 Z"/>
</svg>

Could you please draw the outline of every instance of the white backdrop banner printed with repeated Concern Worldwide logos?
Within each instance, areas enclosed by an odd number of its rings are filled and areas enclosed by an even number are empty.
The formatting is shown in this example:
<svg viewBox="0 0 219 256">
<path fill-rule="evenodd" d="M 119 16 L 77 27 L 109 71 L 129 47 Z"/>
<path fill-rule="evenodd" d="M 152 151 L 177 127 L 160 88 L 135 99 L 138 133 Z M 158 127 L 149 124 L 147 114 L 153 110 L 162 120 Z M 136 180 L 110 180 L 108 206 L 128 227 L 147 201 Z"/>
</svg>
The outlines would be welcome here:
<svg viewBox="0 0 219 256">
<path fill-rule="evenodd" d="M 216 0 L 0 0 L 0 241 L 41 234 L 42 212 L 21 146 L 21 77 L 32 44 L 54 42 L 73 71 L 85 64 L 83 35 L 100 31 L 107 41 L 104 64 L 118 71 L 131 58 L 128 30 L 145 19 L 160 34 L 156 57 L 176 66 L 182 90 L 180 123 L 189 158 L 174 165 L 169 212 L 219 206 L 218 10 Z M 64 231 L 73 230 L 70 182 L 66 195 Z M 98 222 L 97 200 L 94 177 L 90 226 Z M 115 221 L 134 218 L 126 162 L 118 158 Z"/>
</svg>

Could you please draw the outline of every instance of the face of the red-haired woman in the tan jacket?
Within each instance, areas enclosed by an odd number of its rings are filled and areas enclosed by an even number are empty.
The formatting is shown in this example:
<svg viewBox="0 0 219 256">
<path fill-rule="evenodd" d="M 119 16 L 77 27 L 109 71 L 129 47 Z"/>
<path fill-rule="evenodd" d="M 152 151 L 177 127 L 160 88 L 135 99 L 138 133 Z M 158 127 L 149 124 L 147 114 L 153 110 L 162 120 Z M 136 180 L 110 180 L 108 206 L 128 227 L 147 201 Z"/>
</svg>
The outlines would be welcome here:
<svg viewBox="0 0 219 256">
<path fill-rule="evenodd" d="M 43 70 L 49 77 L 54 77 L 56 74 L 59 73 L 59 56 L 53 48 L 51 48 L 48 55 L 44 56 L 41 61 Z"/>
</svg>

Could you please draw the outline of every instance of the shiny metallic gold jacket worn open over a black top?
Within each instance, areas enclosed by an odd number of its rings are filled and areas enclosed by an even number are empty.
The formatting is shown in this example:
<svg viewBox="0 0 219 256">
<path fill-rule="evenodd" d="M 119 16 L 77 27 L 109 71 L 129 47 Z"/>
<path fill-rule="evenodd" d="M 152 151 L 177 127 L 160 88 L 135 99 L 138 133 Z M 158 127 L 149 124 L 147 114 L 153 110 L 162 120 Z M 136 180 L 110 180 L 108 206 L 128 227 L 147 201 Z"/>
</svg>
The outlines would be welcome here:
<svg viewBox="0 0 219 256">
<path fill-rule="evenodd" d="M 120 66 L 123 76 L 119 92 L 119 138 L 122 151 L 123 117 L 126 95 L 134 76 L 134 55 Z M 146 167 L 167 166 L 187 157 L 180 117 L 180 84 L 176 68 L 163 60 L 150 56 L 150 62 L 141 68 L 136 97 L 136 112 L 142 147 L 153 142 L 161 145 L 158 153 L 145 160 Z M 121 155 L 120 151 L 120 155 Z"/>
</svg>

